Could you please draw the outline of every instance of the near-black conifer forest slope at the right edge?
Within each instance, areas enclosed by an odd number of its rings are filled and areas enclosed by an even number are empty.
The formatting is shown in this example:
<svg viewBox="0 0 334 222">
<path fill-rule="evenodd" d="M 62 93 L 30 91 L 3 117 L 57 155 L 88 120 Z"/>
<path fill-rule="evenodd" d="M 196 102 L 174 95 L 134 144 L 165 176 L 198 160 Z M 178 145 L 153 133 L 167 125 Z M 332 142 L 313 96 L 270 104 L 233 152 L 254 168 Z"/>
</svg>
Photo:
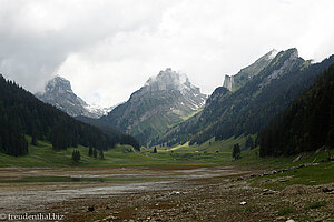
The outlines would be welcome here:
<svg viewBox="0 0 334 222">
<path fill-rule="evenodd" d="M 259 133 L 258 141 L 262 157 L 334 147 L 334 64 Z"/>
</svg>

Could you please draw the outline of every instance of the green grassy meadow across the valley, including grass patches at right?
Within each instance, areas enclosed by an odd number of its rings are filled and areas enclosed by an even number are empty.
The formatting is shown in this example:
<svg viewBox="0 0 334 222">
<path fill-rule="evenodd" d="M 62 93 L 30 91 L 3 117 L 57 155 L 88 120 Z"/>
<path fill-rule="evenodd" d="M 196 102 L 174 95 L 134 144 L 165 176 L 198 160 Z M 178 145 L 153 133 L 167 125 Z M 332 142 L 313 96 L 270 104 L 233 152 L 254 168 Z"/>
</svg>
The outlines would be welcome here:
<svg viewBox="0 0 334 222">
<path fill-rule="evenodd" d="M 28 138 L 28 140 L 30 140 L 30 138 Z M 189 147 L 188 143 L 171 148 L 158 145 L 156 147 L 157 153 L 151 153 L 153 148 L 141 148 L 139 152 L 129 145 L 117 145 L 104 152 L 105 159 L 89 157 L 88 148 L 86 147 L 56 151 L 50 143 L 38 141 L 38 145 L 30 145 L 29 153 L 23 157 L 11 157 L 0 153 L 0 168 L 203 168 L 233 165 L 239 168 L 279 169 L 321 161 L 328 157 L 328 152 L 325 151 L 316 154 L 314 152 L 302 153 L 301 160 L 294 163 L 293 160 L 296 157 L 259 158 L 258 148 L 255 148 L 253 150 L 242 151 L 242 159 L 234 160 L 232 158 L 233 145 L 239 143 L 243 149 L 245 141 L 245 137 L 239 137 L 224 141 L 210 139 L 200 145 L 196 144 L 191 147 Z M 75 149 L 80 151 L 81 160 L 79 162 L 71 160 L 71 154 Z M 131 150 L 131 152 L 125 152 L 127 150 Z M 333 149 L 330 152 L 334 154 Z M 321 178 L 328 178 L 328 173 L 333 175 L 334 167 L 332 162 L 326 164 L 298 169 L 296 172 L 288 171 L 283 175 L 286 174 L 286 176 L 289 176 L 289 174 L 294 174 L 303 179 L 303 181 L 314 178 L 314 180 L 318 182 L 327 182 L 327 180 Z M 281 175 L 282 174 L 279 174 L 279 176 Z M 332 180 L 334 179 L 331 179 L 331 181 Z M 291 182 L 304 183 L 303 181 L 292 180 Z"/>
</svg>

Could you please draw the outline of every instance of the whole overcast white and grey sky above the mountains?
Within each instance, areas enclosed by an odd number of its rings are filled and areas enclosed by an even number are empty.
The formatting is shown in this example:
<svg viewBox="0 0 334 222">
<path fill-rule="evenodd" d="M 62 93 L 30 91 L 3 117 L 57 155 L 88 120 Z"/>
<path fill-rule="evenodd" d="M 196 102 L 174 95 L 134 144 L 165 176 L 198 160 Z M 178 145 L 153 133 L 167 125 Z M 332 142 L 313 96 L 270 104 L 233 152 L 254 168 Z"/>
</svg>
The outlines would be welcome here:
<svg viewBox="0 0 334 222">
<path fill-rule="evenodd" d="M 0 0 L 0 73 L 59 74 L 88 103 L 125 101 L 173 68 L 209 94 L 272 49 L 334 53 L 333 0 Z"/>
</svg>

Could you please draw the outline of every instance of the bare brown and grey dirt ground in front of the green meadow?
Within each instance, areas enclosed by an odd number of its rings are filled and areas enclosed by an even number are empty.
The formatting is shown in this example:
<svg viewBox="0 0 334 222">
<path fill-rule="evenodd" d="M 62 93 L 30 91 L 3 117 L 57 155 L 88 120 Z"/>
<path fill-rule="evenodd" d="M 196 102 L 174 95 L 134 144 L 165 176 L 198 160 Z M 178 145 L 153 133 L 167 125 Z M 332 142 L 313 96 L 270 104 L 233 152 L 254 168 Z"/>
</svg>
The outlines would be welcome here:
<svg viewBox="0 0 334 222">
<path fill-rule="evenodd" d="M 282 191 L 250 185 L 250 174 L 262 172 L 235 168 L 1 169 L 1 178 L 7 179 L 37 174 L 145 179 L 0 183 L 0 213 L 55 213 L 63 215 L 58 221 L 72 222 L 334 221 L 334 184 L 289 185 Z"/>
</svg>

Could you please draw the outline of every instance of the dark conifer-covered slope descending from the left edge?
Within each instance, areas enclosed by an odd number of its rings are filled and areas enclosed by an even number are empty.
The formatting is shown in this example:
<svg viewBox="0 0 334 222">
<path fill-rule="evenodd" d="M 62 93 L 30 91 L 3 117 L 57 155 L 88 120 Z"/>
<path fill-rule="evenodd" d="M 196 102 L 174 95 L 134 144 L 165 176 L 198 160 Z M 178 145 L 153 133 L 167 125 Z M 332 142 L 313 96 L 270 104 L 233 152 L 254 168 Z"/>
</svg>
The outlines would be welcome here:
<svg viewBox="0 0 334 222">
<path fill-rule="evenodd" d="M 107 150 L 120 142 L 119 135 L 107 135 L 92 125 L 72 119 L 39 101 L 14 82 L 6 81 L 2 75 L 0 113 L 0 151 L 10 155 L 29 152 L 26 135 L 32 137 L 32 143 L 37 139 L 50 141 L 55 150 L 79 144 Z"/>
</svg>

